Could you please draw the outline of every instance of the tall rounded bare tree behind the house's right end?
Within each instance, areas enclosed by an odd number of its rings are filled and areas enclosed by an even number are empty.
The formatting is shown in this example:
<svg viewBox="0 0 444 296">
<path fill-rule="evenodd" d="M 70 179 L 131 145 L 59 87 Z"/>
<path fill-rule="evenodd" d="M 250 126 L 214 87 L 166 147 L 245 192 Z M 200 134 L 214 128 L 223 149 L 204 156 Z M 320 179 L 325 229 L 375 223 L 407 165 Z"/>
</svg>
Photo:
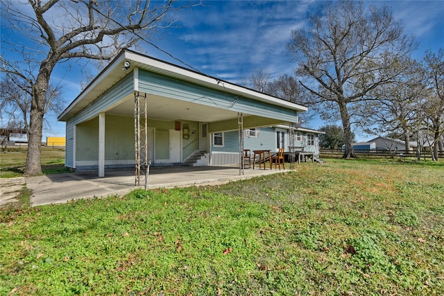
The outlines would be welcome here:
<svg viewBox="0 0 444 296">
<path fill-rule="evenodd" d="M 386 6 L 364 8 L 361 2 L 339 1 L 309 21 L 309 30 L 293 31 L 287 46 L 298 63 L 298 76 L 307 78 L 301 82 L 311 93 L 305 103 L 341 116 L 343 158 L 356 157 L 351 127 L 355 105 L 398 75 L 388 69 L 416 43 L 402 33 L 402 24 Z"/>
</svg>

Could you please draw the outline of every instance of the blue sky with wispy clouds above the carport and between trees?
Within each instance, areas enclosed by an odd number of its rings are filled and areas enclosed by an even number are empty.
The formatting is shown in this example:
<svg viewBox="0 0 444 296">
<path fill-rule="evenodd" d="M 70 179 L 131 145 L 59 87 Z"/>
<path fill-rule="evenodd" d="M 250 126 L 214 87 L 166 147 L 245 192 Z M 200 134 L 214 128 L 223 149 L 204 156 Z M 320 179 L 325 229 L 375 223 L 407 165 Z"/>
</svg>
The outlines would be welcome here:
<svg viewBox="0 0 444 296">
<path fill-rule="evenodd" d="M 179 12 L 176 28 L 160 29 L 152 40 L 162 50 L 141 44 L 142 51 L 155 58 L 191 65 L 194 69 L 243 84 L 252 71 L 266 69 L 272 78 L 292 74 L 296 64 L 286 55 L 286 44 L 292 30 L 307 28 L 307 15 L 316 12 L 323 1 L 205 1 Z M 414 57 L 421 58 L 426 49 L 444 48 L 443 1 L 364 1 L 365 5 L 387 5 L 395 19 L 402 21 L 405 33 L 415 35 L 419 43 Z M 3 33 L 3 32 L 2 32 Z M 2 50 L 3 51 L 3 50 Z M 2 53 L 3 54 L 3 53 Z M 180 61 L 179 61 L 180 60 Z M 96 70 L 90 69 L 91 74 Z M 85 80 L 76 64 L 63 64 L 53 73 L 53 82 L 61 80 L 67 104 L 80 93 L 80 81 Z M 47 116 L 51 132 L 46 136 L 65 136 L 65 123 L 56 116 Z M 320 120 L 305 123 L 309 128 L 325 125 Z M 359 141 L 370 139 L 359 135 Z"/>
</svg>

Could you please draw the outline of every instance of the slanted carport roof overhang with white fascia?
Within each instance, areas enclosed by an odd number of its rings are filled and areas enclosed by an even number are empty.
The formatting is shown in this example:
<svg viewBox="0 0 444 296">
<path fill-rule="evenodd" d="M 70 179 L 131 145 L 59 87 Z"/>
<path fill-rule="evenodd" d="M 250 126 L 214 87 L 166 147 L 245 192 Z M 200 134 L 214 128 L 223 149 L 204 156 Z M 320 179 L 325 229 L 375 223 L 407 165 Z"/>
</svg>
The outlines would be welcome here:
<svg viewBox="0 0 444 296">
<path fill-rule="evenodd" d="M 125 67 L 125 62 L 129 62 L 130 66 Z M 110 64 L 108 64 L 108 66 L 105 67 L 105 69 L 103 69 L 103 71 L 101 71 L 101 73 L 99 73 L 99 75 L 96 76 L 92 82 L 89 83 L 83 92 L 81 92 L 60 114 L 60 116 L 58 116 L 58 120 L 67 121 L 67 119 L 74 116 L 74 114 L 77 112 L 80 112 L 80 110 L 98 98 L 134 68 L 144 69 L 162 76 L 190 82 L 209 89 L 220 90 L 235 96 L 241 96 L 271 105 L 285 107 L 289 110 L 295 110 L 296 112 L 307 111 L 307 107 L 303 105 L 291 103 L 275 96 L 270 96 L 268 94 L 257 92 L 253 89 L 241 87 L 231 82 L 214 78 L 198 71 L 180 67 L 176 64 L 164 62 L 162 60 L 149 57 L 148 55 L 142 55 L 140 53 L 136 53 L 135 51 L 126 49 L 121 51 L 121 53 L 119 53 L 119 55 L 117 55 L 117 57 L 114 58 L 114 60 L 112 60 L 112 62 L 110 62 Z"/>
</svg>

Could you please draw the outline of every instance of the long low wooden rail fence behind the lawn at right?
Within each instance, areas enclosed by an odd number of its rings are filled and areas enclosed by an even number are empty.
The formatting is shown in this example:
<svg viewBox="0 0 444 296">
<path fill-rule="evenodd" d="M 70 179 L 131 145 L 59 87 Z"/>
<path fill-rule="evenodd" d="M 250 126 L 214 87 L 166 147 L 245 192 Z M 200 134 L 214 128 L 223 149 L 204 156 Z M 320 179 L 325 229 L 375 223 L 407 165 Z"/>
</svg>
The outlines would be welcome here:
<svg viewBox="0 0 444 296">
<path fill-rule="evenodd" d="M 344 154 L 343 149 L 327 149 L 321 148 L 321 157 L 327 158 L 341 158 Z M 397 158 L 397 159 L 418 159 L 416 150 L 355 150 L 357 157 L 361 158 Z M 438 153 L 438 158 L 444 159 L 444 151 Z M 422 149 L 420 151 L 420 159 L 432 160 L 432 153 L 429 149 Z"/>
</svg>

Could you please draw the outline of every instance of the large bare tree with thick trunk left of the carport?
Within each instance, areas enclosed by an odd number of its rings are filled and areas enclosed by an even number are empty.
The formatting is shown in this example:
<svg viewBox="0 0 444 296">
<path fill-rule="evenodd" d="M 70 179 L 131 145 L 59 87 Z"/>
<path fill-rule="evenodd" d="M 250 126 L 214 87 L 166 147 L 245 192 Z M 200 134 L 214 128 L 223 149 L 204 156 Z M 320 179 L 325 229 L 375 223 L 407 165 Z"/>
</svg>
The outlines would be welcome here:
<svg viewBox="0 0 444 296">
<path fill-rule="evenodd" d="M 42 173 L 42 125 L 56 65 L 82 58 L 110 60 L 140 40 L 150 43 L 158 28 L 174 24 L 169 16 L 185 7 L 174 0 L 28 0 L 0 5 L 5 31 L 27 40 L 17 44 L 3 35 L 8 53 L 2 46 L 0 58 L 1 71 L 13 81 L 22 80 L 31 94 L 25 175 Z"/>
</svg>

